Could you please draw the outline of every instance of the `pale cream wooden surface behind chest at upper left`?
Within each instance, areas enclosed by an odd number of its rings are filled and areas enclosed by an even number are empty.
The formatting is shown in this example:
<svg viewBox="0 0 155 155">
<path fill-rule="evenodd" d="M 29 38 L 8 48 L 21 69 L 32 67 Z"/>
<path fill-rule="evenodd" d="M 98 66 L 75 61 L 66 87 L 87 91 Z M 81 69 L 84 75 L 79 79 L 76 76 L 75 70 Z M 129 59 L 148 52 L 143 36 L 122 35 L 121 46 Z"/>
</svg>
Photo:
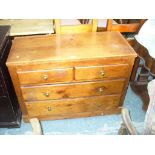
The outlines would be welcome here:
<svg viewBox="0 0 155 155">
<path fill-rule="evenodd" d="M 54 33 L 52 19 L 2 19 L 0 25 L 11 26 L 11 37 Z"/>
</svg>

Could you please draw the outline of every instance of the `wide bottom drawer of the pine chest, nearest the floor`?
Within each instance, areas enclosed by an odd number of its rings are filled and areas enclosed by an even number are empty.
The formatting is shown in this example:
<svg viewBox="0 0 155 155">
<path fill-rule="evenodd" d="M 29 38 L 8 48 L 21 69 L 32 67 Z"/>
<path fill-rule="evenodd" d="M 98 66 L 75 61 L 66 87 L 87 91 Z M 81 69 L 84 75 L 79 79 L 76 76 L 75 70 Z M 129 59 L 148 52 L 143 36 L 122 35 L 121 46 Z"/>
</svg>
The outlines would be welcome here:
<svg viewBox="0 0 155 155">
<path fill-rule="evenodd" d="M 119 107 L 120 95 L 26 102 L 30 117 L 110 111 Z"/>
</svg>

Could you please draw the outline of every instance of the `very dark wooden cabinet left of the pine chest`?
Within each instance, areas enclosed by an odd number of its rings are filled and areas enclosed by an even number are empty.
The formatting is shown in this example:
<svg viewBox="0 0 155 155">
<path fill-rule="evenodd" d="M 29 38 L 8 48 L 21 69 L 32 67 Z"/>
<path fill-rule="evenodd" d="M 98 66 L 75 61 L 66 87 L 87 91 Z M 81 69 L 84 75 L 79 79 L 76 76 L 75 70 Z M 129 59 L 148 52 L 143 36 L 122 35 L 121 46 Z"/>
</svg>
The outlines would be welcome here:
<svg viewBox="0 0 155 155">
<path fill-rule="evenodd" d="M 10 52 L 10 26 L 0 26 L 0 127 L 20 127 L 21 111 L 5 65 Z"/>
</svg>

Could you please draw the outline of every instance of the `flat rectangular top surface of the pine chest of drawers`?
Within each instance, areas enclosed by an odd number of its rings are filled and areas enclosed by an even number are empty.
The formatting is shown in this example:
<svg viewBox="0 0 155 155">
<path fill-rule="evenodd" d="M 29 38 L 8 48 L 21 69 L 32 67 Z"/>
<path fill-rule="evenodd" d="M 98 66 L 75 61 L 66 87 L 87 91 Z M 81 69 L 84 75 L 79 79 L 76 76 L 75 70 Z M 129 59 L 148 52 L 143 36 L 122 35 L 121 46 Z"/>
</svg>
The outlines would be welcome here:
<svg viewBox="0 0 155 155">
<path fill-rule="evenodd" d="M 134 56 L 136 53 L 119 32 L 18 37 L 7 64 Z"/>
</svg>

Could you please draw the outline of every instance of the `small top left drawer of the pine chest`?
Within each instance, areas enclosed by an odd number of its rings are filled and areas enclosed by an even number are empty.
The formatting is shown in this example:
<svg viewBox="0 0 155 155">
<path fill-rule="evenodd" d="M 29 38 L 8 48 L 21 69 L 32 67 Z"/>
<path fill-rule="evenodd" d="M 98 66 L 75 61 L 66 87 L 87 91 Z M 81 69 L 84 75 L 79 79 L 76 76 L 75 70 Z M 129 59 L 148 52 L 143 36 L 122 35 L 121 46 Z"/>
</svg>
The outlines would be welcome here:
<svg viewBox="0 0 155 155">
<path fill-rule="evenodd" d="M 69 82 L 73 80 L 73 68 L 18 71 L 20 84 Z"/>
</svg>

